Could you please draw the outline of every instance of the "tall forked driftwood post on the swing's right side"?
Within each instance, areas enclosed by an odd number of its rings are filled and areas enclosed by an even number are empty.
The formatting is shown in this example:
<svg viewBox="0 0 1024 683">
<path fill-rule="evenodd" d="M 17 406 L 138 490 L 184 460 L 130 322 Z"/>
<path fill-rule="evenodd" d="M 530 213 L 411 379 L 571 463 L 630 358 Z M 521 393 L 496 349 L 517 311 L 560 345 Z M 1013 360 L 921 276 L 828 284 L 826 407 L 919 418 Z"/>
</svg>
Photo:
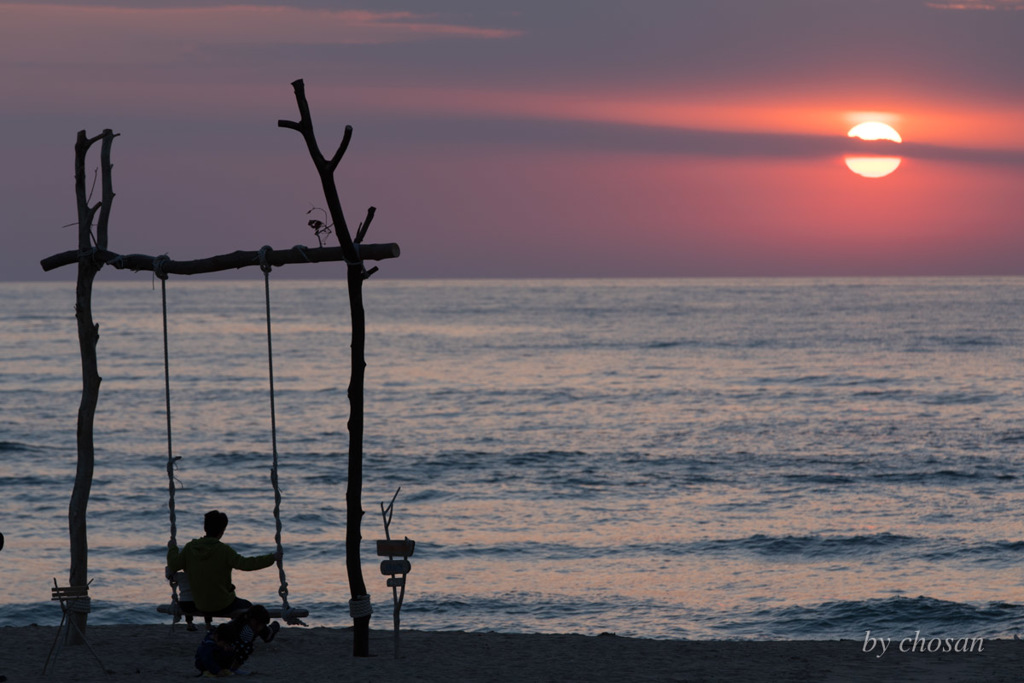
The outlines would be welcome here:
<svg viewBox="0 0 1024 683">
<path fill-rule="evenodd" d="M 341 209 L 338 197 L 338 186 L 334 180 L 334 171 L 348 148 L 352 138 L 352 127 L 345 126 L 345 134 L 334 156 L 328 160 L 321 153 L 313 133 L 313 124 L 309 116 L 309 104 L 306 101 L 305 85 L 302 80 L 294 81 L 295 99 L 299 106 L 299 121 L 279 121 L 282 128 L 291 128 L 302 134 L 316 173 L 324 187 L 324 198 L 327 201 L 328 212 L 335 225 L 335 233 L 341 244 L 348 267 L 348 302 L 352 316 L 351 345 L 351 379 L 348 385 L 348 401 L 351 413 L 348 419 L 348 488 L 345 494 L 346 529 L 345 529 L 345 567 L 348 573 L 348 585 L 352 598 L 349 602 L 353 621 L 352 654 L 354 656 L 370 656 L 370 596 L 367 594 L 366 583 L 362 580 L 362 568 L 359 564 L 359 542 L 362 540 L 359 525 L 362 519 L 362 389 L 366 373 L 366 312 L 362 306 L 362 281 L 377 270 L 376 267 L 367 270 L 362 264 L 359 243 L 366 237 L 374 217 L 375 209 L 371 207 L 366 220 L 359 225 L 355 238 L 348 232 L 348 224 Z"/>
</svg>

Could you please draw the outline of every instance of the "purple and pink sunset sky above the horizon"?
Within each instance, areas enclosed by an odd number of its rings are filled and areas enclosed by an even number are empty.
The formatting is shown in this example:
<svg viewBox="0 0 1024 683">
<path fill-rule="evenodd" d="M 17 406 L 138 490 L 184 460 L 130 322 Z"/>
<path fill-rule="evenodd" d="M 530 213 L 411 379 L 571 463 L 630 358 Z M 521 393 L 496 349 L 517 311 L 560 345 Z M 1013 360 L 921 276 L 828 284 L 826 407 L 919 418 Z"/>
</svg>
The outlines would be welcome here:
<svg viewBox="0 0 1024 683">
<path fill-rule="evenodd" d="M 296 79 L 377 276 L 1024 274 L 1022 63 L 1024 0 L 0 0 L 0 280 L 74 280 L 79 130 L 112 251 L 315 246 Z"/>
</svg>

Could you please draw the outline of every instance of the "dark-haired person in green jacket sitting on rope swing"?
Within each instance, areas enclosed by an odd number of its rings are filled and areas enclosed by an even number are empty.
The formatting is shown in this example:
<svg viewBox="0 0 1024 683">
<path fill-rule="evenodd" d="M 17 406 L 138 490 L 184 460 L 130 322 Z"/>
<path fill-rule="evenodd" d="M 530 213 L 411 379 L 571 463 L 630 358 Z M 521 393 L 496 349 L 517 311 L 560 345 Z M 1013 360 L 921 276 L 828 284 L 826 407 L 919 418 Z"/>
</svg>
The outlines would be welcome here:
<svg viewBox="0 0 1024 683">
<path fill-rule="evenodd" d="M 249 600 L 234 594 L 231 569 L 265 569 L 276 561 L 278 553 L 245 557 L 221 542 L 227 515 L 219 510 L 206 513 L 203 528 L 206 536 L 193 539 L 180 551 L 173 541 L 167 544 L 167 569 L 184 570 L 196 609 L 206 616 L 209 625 L 212 616 L 230 616 L 252 606 Z"/>
</svg>

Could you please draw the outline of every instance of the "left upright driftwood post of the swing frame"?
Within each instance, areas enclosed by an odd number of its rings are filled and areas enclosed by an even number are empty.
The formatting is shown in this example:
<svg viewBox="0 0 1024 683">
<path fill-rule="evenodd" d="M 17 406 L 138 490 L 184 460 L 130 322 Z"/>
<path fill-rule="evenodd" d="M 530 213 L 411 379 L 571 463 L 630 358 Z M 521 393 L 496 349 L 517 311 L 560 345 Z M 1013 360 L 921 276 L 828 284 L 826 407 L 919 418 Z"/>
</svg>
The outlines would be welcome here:
<svg viewBox="0 0 1024 683">
<path fill-rule="evenodd" d="M 106 248 L 106 223 L 114 201 L 111 182 L 111 144 L 114 132 L 104 130 L 96 137 L 86 137 L 79 131 L 75 143 L 75 194 L 78 199 L 78 284 L 75 291 L 75 317 L 78 318 L 78 341 L 82 353 L 82 401 L 78 409 L 78 467 L 75 472 L 75 486 L 68 506 L 68 531 L 71 540 L 71 570 L 69 584 L 82 587 L 89 585 L 89 542 L 86 528 L 86 509 L 89 492 L 92 489 L 92 470 L 95 460 L 93 446 L 93 424 L 96 403 L 99 400 L 99 377 L 96 362 L 96 344 L 99 341 L 99 326 L 92 319 L 92 282 L 102 267 L 102 261 L 94 258 L 95 249 Z M 102 199 L 89 206 L 89 195 L 85 183 L 85 157 L 96 140 L 102 140 L 100 165 L 102 173 Z M 96 210 L 101 209 L 96 225 L 95 244 L 92 242 L 92 219 Z M 88 612 L 74 610 L 68 615 L 75 629 L 69 629 L 70 643 L 81 644 L 85 633 Z"/>
</svg>

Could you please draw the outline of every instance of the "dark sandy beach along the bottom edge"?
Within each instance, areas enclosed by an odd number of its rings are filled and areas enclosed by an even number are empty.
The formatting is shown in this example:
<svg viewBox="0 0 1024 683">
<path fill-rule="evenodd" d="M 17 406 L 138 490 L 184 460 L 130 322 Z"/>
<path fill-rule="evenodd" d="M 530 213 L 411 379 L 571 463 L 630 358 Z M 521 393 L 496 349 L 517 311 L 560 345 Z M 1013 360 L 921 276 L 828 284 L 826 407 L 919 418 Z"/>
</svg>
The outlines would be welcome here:
<svg viewBox="0 0 1024 683">
<path fill-rule="evenodd" d="M 202 635 L 183 626 L 98 626 L 95 651 L 66 646 L 48 676 L 53 627 L 0 629 L 0 675 L 17 681 L 185 681 Z M 985 641 L 975 652 L 899 652 L 836 641 L 667 641 L 614 635 L 403 631 L 371 634 L 373 656 L 351 656 L 347 629 L 288 627 L 260 643 L 252 680 L 286 681 L 1017 681 L 1024 643 Z M 96 660 L 102 660 L 102 667 Z"/>
</svg>

